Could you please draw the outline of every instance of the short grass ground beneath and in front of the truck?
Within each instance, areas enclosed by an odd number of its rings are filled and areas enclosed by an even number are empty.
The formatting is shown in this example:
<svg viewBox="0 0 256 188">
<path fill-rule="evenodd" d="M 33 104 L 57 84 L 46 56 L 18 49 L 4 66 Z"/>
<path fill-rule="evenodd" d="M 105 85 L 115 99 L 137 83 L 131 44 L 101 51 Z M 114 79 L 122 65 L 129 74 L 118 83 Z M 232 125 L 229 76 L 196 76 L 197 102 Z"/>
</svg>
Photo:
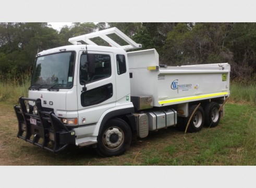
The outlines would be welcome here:
<svg viewBox="0 0 256 188">
<path fill-rule="evenodd" d="M 16 138 L 17 120 L 10 104 L 0 103 L 0 165 L 198 166 L 256 165 L 256 109 L 226 104 L 226 116 L 215 128 L 197 133 L 174 127 L 151 132 L 121 156 L 102 158 L 88 148 L 69 146 L 58 154 Z"/>
</svg>

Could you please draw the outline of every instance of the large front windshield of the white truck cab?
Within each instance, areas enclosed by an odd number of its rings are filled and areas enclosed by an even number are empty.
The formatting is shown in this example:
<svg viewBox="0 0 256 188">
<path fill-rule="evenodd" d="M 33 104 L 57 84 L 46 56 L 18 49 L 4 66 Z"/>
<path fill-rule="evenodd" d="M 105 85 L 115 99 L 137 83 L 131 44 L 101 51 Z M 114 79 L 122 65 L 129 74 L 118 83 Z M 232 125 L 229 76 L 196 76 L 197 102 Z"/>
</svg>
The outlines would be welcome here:
<svg viewBox="0 0 256 188">
<path fill-rule="evenodd" d="M 74 65 L 74 51 L 38 57 L 34 64 L 31 87 L 71 88 Z"/>
</svg>

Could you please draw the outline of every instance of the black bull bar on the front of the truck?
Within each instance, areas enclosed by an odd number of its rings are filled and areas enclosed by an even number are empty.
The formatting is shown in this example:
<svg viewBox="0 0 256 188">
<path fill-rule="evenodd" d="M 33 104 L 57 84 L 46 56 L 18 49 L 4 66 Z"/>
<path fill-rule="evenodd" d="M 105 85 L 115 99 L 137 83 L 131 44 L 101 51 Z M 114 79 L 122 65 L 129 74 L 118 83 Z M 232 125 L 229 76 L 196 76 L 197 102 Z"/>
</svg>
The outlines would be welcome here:
<svg viewBox="0 0 256 188">
<path fill-rule="evenodd" d="M 38 115 L 32 112 L 27 113 L 25 101 L 35 102 Z M 18 119 L 18 138 L 53 153 L 64 150 L 68 144 L 75 144 L 75 131 L 69 130 L 54 112 L 45 111 L 42 108 L 41 99 L 20 97 L 19 102 L 20 106 L 14 106 Z M 36 125 L 34 125 L 34 119 L 36 119 Z"/>
</svg>

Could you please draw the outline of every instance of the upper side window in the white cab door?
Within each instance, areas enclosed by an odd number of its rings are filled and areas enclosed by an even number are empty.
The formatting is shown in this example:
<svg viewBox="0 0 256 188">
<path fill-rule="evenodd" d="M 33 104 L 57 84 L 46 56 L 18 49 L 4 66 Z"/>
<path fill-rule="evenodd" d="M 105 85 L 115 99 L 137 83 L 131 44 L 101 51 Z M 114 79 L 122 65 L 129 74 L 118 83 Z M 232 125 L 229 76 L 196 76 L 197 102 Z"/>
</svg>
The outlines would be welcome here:
<svg viewBox="0 0 256 188">
<path fill-rule="evenodd" d="M 111 76 L 111 58 L 109 55 L 85 53 L 81 55 L 80 84 L 95 82 Z"/>
</svg>

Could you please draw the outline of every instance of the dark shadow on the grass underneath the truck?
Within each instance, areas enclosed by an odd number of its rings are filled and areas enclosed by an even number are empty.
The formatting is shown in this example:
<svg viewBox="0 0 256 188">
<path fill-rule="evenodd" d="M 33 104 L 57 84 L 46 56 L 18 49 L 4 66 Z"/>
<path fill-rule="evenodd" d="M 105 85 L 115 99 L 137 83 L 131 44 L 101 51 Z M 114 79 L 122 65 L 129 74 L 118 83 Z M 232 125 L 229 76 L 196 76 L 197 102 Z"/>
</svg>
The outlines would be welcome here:
<svg viewBox="0 0 256 188">
<path fill-rule="evenodd" d="M 147 147 L 150 147 L 151 144 L 162 144 L 165 142 L 171 142 L 174 138 L 177 139 L 183 136 L 184 132 L 177 130 L 175 127 L 168 127 L 157 131 L 150 131 L 148 137 L 146 138 L 133 139 L 129 150 L 124 154 L 124 156 L 119 156 L 119 158 L 128 157 L 129 153 L 134 153 L 138 150 L 146 149 Z M 112 160 L 111 157 L 104 158 L 97 154 L 92 146 L 77 147 L 76 145 L 68 145 L 65 150 L 57 154 L 49 155 L 48 151 L 45 150 L 41 150 L 39 153 L 44 156 L 48 155 L 49 158 L 54 158 L 55 161 L 58 160 L 61 165 L 88 165 L 88 163 L 90 162 L 91 164 L 94 164 L 95 161 L 100 162 L 99 165 L 104 165 L 105 159 Z"/>
</svg>

